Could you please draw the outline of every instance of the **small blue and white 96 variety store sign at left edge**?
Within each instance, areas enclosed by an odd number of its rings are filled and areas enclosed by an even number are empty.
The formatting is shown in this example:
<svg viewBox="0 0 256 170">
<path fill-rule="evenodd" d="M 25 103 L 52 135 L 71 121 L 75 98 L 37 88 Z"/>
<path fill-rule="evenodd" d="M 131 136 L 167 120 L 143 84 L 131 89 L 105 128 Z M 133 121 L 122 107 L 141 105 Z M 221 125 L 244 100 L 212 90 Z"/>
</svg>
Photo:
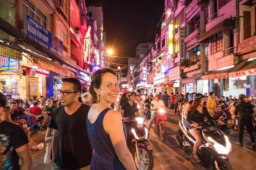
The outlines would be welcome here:
<svg viewBox="0 0 256 170">
<path fill-rule="evenodd" d="M 19 70 L 18 60 L 0 55 L 0 71 Z"/>
</svg>

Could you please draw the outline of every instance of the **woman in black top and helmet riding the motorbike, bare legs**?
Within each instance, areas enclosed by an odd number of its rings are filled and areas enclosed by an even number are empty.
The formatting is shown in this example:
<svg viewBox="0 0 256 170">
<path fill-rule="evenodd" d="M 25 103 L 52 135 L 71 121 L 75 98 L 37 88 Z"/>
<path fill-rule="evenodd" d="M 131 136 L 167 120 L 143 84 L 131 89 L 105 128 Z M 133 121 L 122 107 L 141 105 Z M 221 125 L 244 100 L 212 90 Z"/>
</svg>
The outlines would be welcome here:
<svg viewBox="0 0 256 170">
<path fill-rule="evenodd" d="M 206 116 L 209 120 L 213 119 L 212 116 L 210 116 L 207 108 L 204 106 L 204 95 L 201 93 L 197 93 L 193 97 L 193 102 L 191 106 L 188 109 L 188 115 L 187 115 L 187 123 L 192 126 L 193 128 L 189 128 L 190 134 L 195 138 L 195 143 L 193 147 L 193 158 L 197 162 L 201 162 L 197 155 L 197 150 L 201 145 L 201 134 L 198 129 L 194 129 L 198 127 L 198 123 L 204 122 L 204 117 Z M 192 122 L 193 121 L 193 122 Z M 224 122 L 219 121 L 220 124 L 224 124 Z"/>
</svg>

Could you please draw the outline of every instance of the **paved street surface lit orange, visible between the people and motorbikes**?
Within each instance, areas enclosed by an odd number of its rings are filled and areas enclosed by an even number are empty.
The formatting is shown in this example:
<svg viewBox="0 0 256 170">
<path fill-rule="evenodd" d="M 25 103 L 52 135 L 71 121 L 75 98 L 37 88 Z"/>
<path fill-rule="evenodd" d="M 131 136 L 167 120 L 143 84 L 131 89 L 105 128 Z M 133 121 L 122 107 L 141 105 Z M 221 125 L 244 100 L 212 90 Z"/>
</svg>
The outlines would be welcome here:
<svg viewBox="0 0 256 170">
<path fill-rule="evenodd" d="M 198 163 L 196 163 L 190 156 L 184 153 L 174 139 L 174 135 L 177 134 L 179 129 L 178 125 L 179 116 L 168 116 L 168 136 L 166 141 L 162 142 L 153 130 L 150 131 L 150 145 L 153 149 L 154 168 L 153 169 L 204 169 Z M 45 133 L 45 132 L 40 132 Z M 33 135 L 35 138 L 38 134 Z M 256 169 L 256 151 L 251 149 L 251 143 L 248 135 L 244 137 L 244 147 L 239 147 L 235 143 L 237 142 L 237 131 L 231 130 L 229 135 L 233 150 L 229 154 L 228 158 L 232 164 L 232 168 L 235 170 L 254 170 Z M 42 141 L 40 141 L 42 142 Z M 45 147 L 40 151 L 32 151 L 34 170 L 50 169 L 51 165 L 43 164 L 43 158 L 45 154 Z"/>
</svg>

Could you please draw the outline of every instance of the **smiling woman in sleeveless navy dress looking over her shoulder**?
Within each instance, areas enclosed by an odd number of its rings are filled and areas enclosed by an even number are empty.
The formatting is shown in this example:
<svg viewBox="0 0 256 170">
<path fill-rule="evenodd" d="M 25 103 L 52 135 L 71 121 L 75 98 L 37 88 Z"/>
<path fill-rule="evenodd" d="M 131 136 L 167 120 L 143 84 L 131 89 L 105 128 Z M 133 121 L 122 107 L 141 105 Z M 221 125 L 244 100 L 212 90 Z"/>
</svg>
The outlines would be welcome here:
<svg viewBox="0 0 256 170">
<path fill-rule="evenodd" d="M 110 109 L 119 94 L 119 83 L 111 68 L 96 70 L 91 76 L 93 106 L 87 117 L 87 131 L 94 149 L 91 170 L 135 170 L 125 142 L 120 113 Z"/>
</svg>

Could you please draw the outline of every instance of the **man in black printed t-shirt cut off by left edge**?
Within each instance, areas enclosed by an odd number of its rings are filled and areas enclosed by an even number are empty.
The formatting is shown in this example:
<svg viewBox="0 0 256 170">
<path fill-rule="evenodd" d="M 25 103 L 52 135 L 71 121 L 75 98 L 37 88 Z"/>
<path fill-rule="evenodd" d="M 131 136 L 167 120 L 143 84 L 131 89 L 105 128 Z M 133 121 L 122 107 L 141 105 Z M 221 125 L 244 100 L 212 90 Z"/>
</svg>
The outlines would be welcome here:
<svg viewBox="0 0 256 170">
<path fill-rule="evenodd" d="M 2 117 L 6 103 L 5 95 L 0 93 L 0 169 L 31 169 L 32 157 L 27 134 L 22 126 L 6 121 Z"/>
</svg>

